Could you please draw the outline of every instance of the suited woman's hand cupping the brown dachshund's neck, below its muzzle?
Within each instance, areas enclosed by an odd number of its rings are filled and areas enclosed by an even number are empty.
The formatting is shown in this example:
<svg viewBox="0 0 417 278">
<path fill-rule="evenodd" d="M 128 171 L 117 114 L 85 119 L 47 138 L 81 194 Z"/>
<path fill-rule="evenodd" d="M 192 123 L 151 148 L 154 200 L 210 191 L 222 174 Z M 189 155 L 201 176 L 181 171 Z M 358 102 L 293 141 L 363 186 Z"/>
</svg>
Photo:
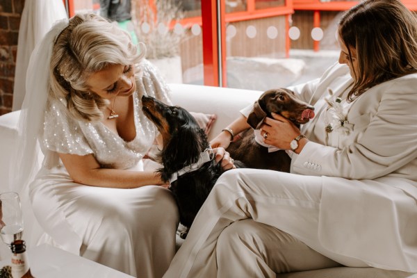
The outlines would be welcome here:
<svg viewBox="0 0 417 278">
<path fill-rule="evenodd" d="M 300 135 L 300 129 L 286 117 L 276 113 L 272 113 L 272 117 L 265 117 L 261 125 L 261 134 L 268 133 L 264 142 L 279 149 L 291 149 L 290 142 Z"/>
</svg>

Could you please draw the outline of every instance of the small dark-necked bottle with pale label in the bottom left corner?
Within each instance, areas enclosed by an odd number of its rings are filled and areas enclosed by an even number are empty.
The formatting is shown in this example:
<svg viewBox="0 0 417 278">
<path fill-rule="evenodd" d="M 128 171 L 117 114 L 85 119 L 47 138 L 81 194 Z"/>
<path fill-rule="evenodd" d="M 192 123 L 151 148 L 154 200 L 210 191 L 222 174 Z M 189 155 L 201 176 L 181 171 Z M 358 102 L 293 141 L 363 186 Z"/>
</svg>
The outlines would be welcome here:
<svg viewBox="0 0 417 278">
<path fill-rule="evenodd" d="M 12 250 L 12 277 L 13 278 L 34 278 L 29 268 L 28 256 L 24 240 L 15 240 L 10 245 Z"/>
</svg>

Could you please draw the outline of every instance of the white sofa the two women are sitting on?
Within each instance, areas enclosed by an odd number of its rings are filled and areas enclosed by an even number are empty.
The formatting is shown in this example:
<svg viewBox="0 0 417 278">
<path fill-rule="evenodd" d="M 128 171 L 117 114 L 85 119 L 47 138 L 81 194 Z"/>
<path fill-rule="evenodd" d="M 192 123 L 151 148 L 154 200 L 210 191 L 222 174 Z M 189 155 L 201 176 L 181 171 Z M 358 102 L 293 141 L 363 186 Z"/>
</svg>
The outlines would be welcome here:
<svg viewBox="0 0 417 278">
<path fill-rule="evenodd" d="M 251 104 L 255 101 L 261 92 L 253 90 L 241 90 L 231 88 L 217 88 L 202 85 L 185 85 L 170 84 L 172 89 L 172 101 L 174 104 L 188 109 L 188 111 L 201 112 L 217 115 L 209 138 L 217 135 L 224 126 L 234 120 L 239 115 L 240 108 Z M 0 192 L 8 191 L 8 169 L 10 156 L 12 154 L 11 146 L 17 136 L 17 120 L 19 111 L 8 113 L 0 116 Z M 31 231 L 25 229 L 24 235 L 30 234 Z M 6 248 L 6 250 L 4 250 Z M 10 252 L 6 245 L 2 245 L 1 252 Z M 3 253 L 4 254 L 4 253 Z M 390 278 L 417 278 L 407 272 L 379 270 L 376 268 L 330 268 L 326 270 L 313 270 L 306 272 L 294 272 L 277 277 L 291 278 L 371 278 L 371 277 L 390 277 Z"/>
</svg>

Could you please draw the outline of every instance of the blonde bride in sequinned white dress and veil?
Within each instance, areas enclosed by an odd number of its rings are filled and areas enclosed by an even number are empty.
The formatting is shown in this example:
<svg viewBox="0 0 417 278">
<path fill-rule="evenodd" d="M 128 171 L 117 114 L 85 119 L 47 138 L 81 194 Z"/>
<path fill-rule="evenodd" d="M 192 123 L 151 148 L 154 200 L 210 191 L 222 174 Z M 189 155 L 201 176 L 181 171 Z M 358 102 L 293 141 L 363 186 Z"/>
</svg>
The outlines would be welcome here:
<svg viewBox="0 0 417 278">
<path fill-rule="evenodd" d="M 28 69 L 17 184 L 30 182 L 44 230 L 38 243 L 136 277 L 161 277 L 174 256 L 179 215 L 159 174 L 143 167 L 157 131 L 140 107 L 142 95 L 170 104 L 170 92 L 144 54 L 93 14 L 47 33 Z M 44 161 L 32 178 L 38 142 Z"/>
</svg>

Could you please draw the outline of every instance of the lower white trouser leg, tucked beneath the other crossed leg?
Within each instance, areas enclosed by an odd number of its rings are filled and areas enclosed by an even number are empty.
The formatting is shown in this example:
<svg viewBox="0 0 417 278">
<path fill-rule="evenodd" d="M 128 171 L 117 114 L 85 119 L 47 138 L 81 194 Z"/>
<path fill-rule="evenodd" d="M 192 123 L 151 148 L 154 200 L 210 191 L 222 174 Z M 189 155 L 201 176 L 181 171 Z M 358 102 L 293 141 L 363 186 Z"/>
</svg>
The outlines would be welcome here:
<svg viewBox="0 0 417 278">
<path fill-rule="evenodd" d="M 332 268 L 339 263 L 279 229 L 240 220 L 226 227 L 216 245 L 218 277 L 275 277 L 276 273 Z"/>
</svg>

